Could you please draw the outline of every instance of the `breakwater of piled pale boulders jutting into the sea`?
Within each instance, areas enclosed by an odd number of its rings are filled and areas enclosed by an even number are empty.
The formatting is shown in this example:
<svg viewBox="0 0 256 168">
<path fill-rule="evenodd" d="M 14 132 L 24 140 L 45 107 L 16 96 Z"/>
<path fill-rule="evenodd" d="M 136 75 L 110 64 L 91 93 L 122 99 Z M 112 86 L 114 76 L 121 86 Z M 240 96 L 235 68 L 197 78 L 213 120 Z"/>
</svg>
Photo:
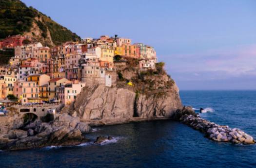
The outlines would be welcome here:
<svg viewBox="0 0 256 168">
<path fill-rule="evenodd" d="M 227 125 L 218 125 L 203 119 L 196 114 L 191 107 L 184 107 L 177 111 L 176 120 L 202 132 L 206 137 L 218 142 L 232 142 L 241 144 L 255 144 L 254 138 L 237 128 L 229 128 Z"/>
</svg>

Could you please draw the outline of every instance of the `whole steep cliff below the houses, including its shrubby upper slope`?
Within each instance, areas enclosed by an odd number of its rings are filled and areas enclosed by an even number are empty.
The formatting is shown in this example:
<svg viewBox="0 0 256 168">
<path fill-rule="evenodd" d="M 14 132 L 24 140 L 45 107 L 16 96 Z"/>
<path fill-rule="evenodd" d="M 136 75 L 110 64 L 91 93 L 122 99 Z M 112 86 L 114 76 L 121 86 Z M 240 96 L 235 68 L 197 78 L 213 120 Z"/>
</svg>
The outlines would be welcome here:
<svg viewBox="0 0 256 168">
<path fill-rule="evenodd" d="M 172 118 L 182 109 L 178 87 L 163 70 L 139 71 L 134 59 L 117 67 L 117 84 L 86 86 L 76 101 L 62 112 L 90 125 L 118 124 L 138 120 Z M 128 82 L 133 85 L 128 85 Z"/>
</svg>

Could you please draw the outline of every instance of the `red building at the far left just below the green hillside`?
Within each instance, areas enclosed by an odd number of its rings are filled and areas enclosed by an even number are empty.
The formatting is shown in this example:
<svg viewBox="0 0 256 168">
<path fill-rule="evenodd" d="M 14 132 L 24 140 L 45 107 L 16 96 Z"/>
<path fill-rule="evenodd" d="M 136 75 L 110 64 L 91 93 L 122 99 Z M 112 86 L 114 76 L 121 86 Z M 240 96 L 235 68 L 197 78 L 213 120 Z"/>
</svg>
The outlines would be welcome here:
<svg viewBox="0 0 256 168">
<path fill-rule="evenodd" d="M 31 41 L 30 36 L 27 35 L 13 35 L 13 36 L 8 36 L 5 39 L 2 40 L 2 48 L 6 47 L 6 48 L 14 48 L 16 46 L 22 46 L 23 45 L 23 41 L 25 39 L 28 39 Z"/>
</svg>

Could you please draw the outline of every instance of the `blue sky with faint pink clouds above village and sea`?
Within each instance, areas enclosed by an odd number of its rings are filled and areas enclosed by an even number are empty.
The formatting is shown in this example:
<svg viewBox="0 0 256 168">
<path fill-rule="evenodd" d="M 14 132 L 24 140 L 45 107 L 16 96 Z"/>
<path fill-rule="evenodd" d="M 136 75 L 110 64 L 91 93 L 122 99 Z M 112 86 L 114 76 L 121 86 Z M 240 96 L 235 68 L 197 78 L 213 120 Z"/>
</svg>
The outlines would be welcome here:
<svg viewBox="0 0 256 168">
<path fill-rule="evenodd" d="M 180 90 L 256 89 L 256 0 L 22 0 L 80 37 L 153 46 Z"/>
</svg>

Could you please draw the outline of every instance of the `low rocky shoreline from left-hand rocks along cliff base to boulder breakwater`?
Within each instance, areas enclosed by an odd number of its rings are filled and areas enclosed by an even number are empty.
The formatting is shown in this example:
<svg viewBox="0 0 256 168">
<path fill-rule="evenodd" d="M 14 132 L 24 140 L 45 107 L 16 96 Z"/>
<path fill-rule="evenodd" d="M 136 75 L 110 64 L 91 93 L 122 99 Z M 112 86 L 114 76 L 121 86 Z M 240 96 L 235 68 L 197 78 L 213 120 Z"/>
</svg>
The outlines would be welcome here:
<svg viewBox="0 0 256 168">
<path fill-rule="evenodd" d="M 0 135 L 0 150 L 24 150 L 32 148 L 43 148 L 47 146 L 75 146 L 90 142 L 83 134 L 91 132 L 90 126 L 123 124 L 127 122 L 139 122 L 149 120 L 174 119 L 184 123 L 200 132 L 211 140 L 218 142 L 232 142 L 243 144 L 255 144 L 255 140 L 249 134 L 239 129 L 231 129 L 228 126 L 217 125 L 206 119 L 200 118 L 191 107 L 183 107 L 170 118 L 138 118 L 120 120 L 118 122 L 81 122 L 79 117 L 72 117 L 67 113 L 58 114 L 51 122 L 36 120 L 22 128 L 12 128 L 8 134 Z M 89 126 L 90 125 L 90 126 Z M 98 136 L 95 144 L 100 144 L 112 137 Z M 93 141 L 92 141 L 93 142 Z"/>
</svg>

